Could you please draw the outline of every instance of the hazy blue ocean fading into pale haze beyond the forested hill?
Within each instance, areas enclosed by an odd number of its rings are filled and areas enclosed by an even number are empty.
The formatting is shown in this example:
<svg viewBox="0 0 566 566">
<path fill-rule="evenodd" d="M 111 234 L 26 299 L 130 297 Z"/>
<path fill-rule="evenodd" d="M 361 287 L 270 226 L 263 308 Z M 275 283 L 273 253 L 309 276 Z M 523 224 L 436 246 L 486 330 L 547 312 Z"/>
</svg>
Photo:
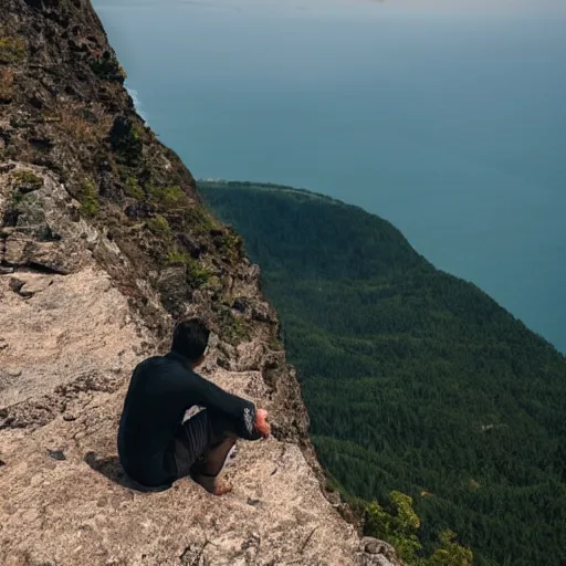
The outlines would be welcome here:
<svg viewBox="0 0 566 566">
<path fill-rule="evenodd" d="M 359 205 L 566 352 L 566 8 L 95 0 L 197 178 Z"/>
</svg>

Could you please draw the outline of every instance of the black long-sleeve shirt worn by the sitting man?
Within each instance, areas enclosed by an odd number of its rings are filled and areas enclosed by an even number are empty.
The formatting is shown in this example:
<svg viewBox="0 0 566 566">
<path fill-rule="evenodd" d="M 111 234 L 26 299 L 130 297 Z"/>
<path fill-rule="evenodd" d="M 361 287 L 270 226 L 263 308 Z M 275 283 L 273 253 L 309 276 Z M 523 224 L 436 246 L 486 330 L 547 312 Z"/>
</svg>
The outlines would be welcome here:
<svg viewBox="0 0 566 566">
<path fill-rule="evenodd" d="M 175 352 L 142 361 L 132 376 L 118 431 L 118 453 L 126 473 L 144 485 L 163 485 L 175 478 L 164 468 L 167 449 L 193 406 L 221 412 L 247 440 L 255 431 L 255 406 L 192 371 Z"/>
</svg>

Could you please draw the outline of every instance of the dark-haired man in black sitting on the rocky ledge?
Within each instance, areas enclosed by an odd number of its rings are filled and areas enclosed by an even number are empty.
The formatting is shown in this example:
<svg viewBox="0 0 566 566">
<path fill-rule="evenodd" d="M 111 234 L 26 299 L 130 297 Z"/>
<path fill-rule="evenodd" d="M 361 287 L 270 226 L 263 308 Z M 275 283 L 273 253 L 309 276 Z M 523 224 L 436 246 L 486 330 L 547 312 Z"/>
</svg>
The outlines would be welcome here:
<svg viewBox="0 0 566 566">
<path fill-rule="evenodd" d="M 190 475 L 214 495 L 232 486 L 218 479 L 238 438 L 269 437 L 268 411 L 231 395 L 195 369 L 210 331 L 197 318 L 177 324 L 171 352 L 134 370 L 119 422 L 118 453 L 126 473 L 145 486 Z M 186 419 L 192 407 L 202 407 Z"/>
</svg>

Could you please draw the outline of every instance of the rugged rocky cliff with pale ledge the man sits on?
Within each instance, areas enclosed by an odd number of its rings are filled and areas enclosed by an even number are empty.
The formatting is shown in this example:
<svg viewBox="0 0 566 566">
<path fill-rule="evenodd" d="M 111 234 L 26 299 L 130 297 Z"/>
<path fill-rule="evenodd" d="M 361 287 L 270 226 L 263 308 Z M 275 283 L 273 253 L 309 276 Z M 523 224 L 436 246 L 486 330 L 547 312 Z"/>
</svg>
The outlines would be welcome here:
<svg viewBox="0 0 566 566">
<path fill-rule="evenodd" d="M 259 269 L 135 113 L 91 4 L 0 13 L 0 563 L 398 564 L 323 493 Z M 137 491 L 116 457 L 133 366 L 188 314 L 214 331 L 203 375 L 272 415 L 222 499 Z"/>
</svg>

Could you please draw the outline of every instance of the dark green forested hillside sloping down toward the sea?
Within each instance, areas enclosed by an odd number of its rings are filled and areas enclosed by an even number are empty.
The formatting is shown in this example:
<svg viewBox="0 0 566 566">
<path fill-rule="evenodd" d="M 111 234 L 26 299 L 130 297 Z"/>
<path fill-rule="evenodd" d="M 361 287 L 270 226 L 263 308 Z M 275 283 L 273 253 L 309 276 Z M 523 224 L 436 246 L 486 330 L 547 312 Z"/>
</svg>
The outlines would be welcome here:
<svg viewBox="0 0 566 566">
<path fill-rule="evenodd" d="M 359 208 L 275 186 L 200 189 L 262 268 L 313 441 L 343 488 L 409 493 L 423 541 L 450 527 L 480 565 L 566 564 L 564 356 Z"/>
</svg>

